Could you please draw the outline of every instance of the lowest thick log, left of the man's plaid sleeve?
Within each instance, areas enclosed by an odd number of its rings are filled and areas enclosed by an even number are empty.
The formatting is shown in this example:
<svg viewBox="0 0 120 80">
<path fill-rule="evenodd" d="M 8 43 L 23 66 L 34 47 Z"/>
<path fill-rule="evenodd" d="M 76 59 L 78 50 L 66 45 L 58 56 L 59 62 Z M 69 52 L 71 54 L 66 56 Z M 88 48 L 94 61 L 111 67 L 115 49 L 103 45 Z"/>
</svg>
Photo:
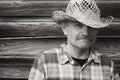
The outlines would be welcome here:
<svg viewBox="0 0 120 80">
<path fill-rule="evenodd" d="M 0 58 L 0 78 L 27 79 L 33 60 L 27 59 L 1 59 Z M 12 74 L 11 74 L 12 73 Z M 4 80 L 4 79 L 2 79 Z"/>
</svg>

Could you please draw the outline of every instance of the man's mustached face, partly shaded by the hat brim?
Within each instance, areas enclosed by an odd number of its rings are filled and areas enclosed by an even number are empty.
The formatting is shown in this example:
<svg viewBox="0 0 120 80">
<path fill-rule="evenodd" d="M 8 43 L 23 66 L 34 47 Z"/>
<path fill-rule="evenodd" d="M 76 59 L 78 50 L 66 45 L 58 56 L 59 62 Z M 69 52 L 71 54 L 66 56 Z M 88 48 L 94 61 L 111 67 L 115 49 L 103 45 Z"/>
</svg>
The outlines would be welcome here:
<svg viewBox="0 0 120 80">
<path fill-rule="evenodd" d="M 78 22 L 66 22 L 63 32 L 69 45 L 78 48 L 89 48 L 95 43 L 98 29 Z"/>
</svg>

